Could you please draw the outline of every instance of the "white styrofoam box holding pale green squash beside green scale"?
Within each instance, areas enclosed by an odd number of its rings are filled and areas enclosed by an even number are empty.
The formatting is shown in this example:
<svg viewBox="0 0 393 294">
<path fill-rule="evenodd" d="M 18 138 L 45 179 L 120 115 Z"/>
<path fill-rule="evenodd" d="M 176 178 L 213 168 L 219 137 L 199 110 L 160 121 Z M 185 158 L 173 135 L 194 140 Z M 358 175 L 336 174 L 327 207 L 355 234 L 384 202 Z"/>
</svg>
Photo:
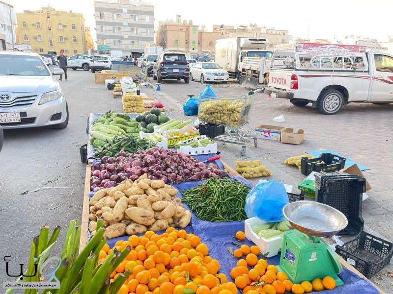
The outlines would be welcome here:
<svg viewBox="0 0 393 294">
<path fill-rule="evenodd" d="M 267 257 L 272 257 L 281 251 L 283 239 L 280 236 L 271 238 L 266 240 L 265 238 L 259 238 L 253 231 L 252 227 L 257 224 L 263 224 L 265 221 L 262 221 L 259 218 L 251 218 L 244 221 L 244 233 L 246 234 L 246 238 L 252 241 L 255 245 L 261 249 L 262 254 L 266 254 L 269 252 Z"/>
</svg>

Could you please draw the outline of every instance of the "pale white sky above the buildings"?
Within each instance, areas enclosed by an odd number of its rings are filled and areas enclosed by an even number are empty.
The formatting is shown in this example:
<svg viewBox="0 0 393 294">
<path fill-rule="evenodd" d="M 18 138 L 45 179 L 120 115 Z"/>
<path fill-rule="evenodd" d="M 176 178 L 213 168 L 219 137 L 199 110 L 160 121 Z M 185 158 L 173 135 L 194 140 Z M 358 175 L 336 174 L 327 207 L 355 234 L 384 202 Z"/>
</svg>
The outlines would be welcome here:
<svg viewBox="0 0 393 294">
<path fill-rule="evenodd" d="M 3 0 L 16 12 L 39 10 L 48 3 L 56 10 L 83 13 L 95 40 L 94 0 Z M 293 37 L 343 39 L 345 36 L 393 38 L 393 0 L 150 0 L 158 21 L 192 20 L 195 25 L 250 25 L 288 30 Z M 326 3 L 326 4 L 325 4 Z"/>
</svg>

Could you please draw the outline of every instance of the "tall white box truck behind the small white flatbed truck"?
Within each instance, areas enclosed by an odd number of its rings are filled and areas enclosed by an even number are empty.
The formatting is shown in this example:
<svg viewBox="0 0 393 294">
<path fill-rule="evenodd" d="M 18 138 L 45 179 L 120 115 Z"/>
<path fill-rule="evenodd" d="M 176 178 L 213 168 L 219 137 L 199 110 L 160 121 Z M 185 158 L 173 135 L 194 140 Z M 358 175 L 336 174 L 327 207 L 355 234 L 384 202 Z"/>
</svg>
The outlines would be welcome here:
<svg viewBox="0 0 393 294">
<path fill-rule="evenodd" d="M 216 40 L 215 61 L 230 78 L 239 78 L 244 57 L 265 57 L 269 41 L 264 38 L 226 38 Z"/>
</svg>

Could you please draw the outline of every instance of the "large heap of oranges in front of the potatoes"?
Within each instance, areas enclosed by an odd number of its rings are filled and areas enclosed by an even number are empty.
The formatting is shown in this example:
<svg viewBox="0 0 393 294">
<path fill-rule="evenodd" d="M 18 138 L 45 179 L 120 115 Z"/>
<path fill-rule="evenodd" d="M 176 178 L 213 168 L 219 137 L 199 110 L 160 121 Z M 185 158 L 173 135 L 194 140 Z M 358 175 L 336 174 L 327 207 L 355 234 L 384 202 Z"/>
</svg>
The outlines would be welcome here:
<svg viewBox="0 0 393 294">
<path fill-rule="evenodd" d="M 169 227 L 162 235 L 147 231 L 116 242 L 112 249 L 105 245 L 98 262 L 114 248 L 127 246 L 132 250 L 110 275 L 114 281 L 125 270 L 131 271 L 118 294 L 237 294 L 235 284 L 219 273 L 220 263 L 208 255 L 207 245 L 185 230 Z"/>
</svg>

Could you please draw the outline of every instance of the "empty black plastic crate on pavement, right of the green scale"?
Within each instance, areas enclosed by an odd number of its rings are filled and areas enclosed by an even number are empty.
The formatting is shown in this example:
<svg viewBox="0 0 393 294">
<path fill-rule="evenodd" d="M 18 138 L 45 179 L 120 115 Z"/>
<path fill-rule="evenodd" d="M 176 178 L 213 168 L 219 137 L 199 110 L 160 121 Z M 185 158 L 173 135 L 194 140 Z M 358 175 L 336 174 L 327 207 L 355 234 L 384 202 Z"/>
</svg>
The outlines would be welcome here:
<svg viewBox="0 0 393 294">
<path fill-rule="evenodd" d="M 393 244 L 361 232 L 354 240 L 336 245 L 336 253 L 363 273 L 368 279 L 386 267 L 393 256 Z"/>
</svg>

